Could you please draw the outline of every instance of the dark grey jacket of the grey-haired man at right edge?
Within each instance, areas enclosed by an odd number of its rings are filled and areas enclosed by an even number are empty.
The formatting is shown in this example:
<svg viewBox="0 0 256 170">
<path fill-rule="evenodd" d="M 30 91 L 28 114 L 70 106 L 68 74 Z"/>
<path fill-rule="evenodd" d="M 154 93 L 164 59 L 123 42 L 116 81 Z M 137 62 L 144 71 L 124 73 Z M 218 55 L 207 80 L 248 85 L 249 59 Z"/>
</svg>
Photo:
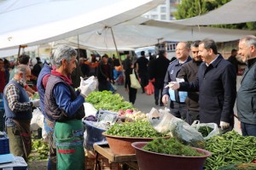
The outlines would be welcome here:
<svg viewBox="0 0 256 170">
<path fill-rule="evenodd" d="M 241 122 L 256 125 L 256 59 L 249 59 L 236 99 Z"/>
</svg>

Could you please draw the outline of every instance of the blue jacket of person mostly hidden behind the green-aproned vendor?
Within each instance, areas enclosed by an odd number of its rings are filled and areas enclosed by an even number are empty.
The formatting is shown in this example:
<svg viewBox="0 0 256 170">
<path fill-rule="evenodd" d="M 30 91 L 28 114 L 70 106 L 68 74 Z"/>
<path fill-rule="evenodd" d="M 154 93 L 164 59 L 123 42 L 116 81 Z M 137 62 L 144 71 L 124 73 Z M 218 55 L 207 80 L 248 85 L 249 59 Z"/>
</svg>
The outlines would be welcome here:
<svg viewBox="0 0 256 170">
<path fill-rule="evenodd" d="M 37 88 L 38 88 L 38 94 L 40 96 L 40 108 L 45 118 L 49 119 L 49 117 L 44 112 L 44 94 L 45 94 L 45 88 L 43 86 L 43 78 L 46 75 L 50 74 L 50 71 L 52 70 L 50 65 L 44 64 L 44 67 L 39 73 L 38 76 L 38 82 L 37 82 Z"/>
</svg>

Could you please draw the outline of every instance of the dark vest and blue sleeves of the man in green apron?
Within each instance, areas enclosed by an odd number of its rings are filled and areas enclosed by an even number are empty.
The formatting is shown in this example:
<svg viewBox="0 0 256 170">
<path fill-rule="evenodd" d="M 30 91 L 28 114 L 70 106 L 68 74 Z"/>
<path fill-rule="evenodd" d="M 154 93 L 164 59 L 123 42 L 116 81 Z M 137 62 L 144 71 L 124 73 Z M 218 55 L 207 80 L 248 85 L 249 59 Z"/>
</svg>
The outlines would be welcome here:
<svg viewBox="0 0 256 170">
<path fill-rule="evenodd" d="M 84 97 L 75 92 L 61 77 L 50 75 L 44 96 L 44 111 L 50 121 L 64 122 L 82 119 L 84 113 Z"/>
</svg>

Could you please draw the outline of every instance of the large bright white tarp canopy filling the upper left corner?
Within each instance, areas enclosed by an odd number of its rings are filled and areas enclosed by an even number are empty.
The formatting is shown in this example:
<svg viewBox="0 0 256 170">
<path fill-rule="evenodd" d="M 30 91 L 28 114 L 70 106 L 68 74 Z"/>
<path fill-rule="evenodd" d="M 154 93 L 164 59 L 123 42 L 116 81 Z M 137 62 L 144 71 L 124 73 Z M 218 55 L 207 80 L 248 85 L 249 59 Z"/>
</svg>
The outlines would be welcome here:
<svg viewBox="0 0 256 170">
<path fill-rule="evenodd" d="M 164 0 L 9 0 L 0 1 L 0 49 L 54 42 L 116 26 Z"/>
</svg>

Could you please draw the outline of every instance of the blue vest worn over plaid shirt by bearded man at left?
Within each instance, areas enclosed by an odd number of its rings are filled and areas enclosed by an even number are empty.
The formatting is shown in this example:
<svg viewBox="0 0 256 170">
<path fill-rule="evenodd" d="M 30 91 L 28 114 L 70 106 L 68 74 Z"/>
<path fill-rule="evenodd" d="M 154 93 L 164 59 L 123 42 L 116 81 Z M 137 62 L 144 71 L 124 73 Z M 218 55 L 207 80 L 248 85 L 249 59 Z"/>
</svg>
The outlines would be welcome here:
<svg viewBox="0 0 256 170">
<path fill-rule="evenodd" d="M 20 100 L 19 100 L 19 102 L 20 103 L 30 102 L 29 97 L 26 94 L 25 89 L 22 88 L 19 83 L 15 82 L 15 81 L 10 81 L 6 85 L 6 87 L 8 87 L 9 84 L 14 84 L 17 88 L 19 88 L 19 90 L 20 90 Z M 4 103 L 5 115 L 6 115 L 6 118 L 7 118 L 7 120 L 6 120 L 7 126 L 14 126 L 14 122 L 12 122 L 12 119 L 15 119 L 15 120 L 30 120 L 30 119 L 32 119 L 32 107 L 27 108 L 27 111 L 20 111 L 20 112 L 11 111 L 10 108 L 9 108 L 9 105 L 8 105 L 8 99 L 7 99 L 6 94 L 5 94 L 5 89 L 4 89 L 3 92 L 4 92 L 3 103 Z"/>
</svg>

